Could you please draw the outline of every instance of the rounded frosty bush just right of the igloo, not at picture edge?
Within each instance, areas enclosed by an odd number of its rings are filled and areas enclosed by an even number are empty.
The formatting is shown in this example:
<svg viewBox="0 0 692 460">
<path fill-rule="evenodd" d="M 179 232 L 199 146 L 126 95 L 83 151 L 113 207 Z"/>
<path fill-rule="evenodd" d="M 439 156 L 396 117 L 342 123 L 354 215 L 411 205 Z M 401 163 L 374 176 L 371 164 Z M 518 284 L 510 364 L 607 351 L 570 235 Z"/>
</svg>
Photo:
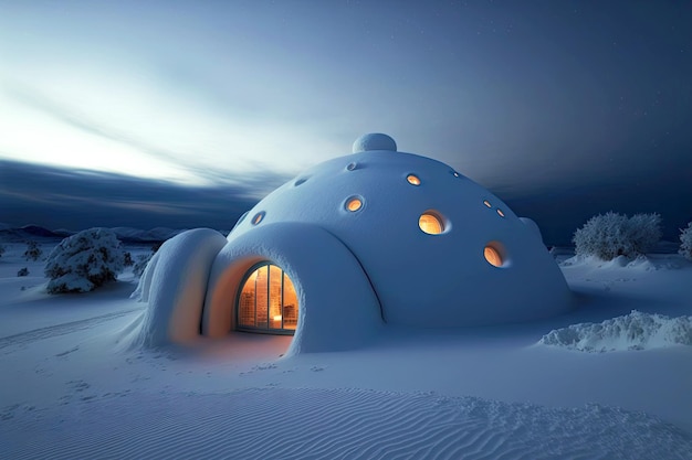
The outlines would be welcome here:
<svg viewBox="0 0 692 460">
<path fill-rule="evenodd" d="M 611 260 L 618 256 L 638 257 L 651 250 L 661 239 L 659 214 L 625 214 L 608 212 L 588 220 L 578 228 L 573 242 L 578 256 L 597 256 Z"/>
</svg>

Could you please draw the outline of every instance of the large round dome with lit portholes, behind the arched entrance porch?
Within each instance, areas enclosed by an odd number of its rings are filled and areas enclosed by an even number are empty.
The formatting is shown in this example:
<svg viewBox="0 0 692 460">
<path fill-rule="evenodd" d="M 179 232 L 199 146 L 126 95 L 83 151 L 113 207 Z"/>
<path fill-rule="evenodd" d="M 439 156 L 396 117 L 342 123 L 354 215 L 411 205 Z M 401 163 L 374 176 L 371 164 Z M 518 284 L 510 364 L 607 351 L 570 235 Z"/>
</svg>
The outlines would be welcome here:
<svg viewBox="0 0 692 460">
<path fill-rule="evenodd" d="M 539 233 L 497 196 L 444 163 L 397 152 L 386 135 L 364 136 L 354 150 L 272 192 L 228 240 L 290 222 L 326 229 L 361 265 L 388 323 L 470 325 L 565 310 L 567 286 Z M 304 246 L 331 269 L 328 254 Z"/>
</svg>

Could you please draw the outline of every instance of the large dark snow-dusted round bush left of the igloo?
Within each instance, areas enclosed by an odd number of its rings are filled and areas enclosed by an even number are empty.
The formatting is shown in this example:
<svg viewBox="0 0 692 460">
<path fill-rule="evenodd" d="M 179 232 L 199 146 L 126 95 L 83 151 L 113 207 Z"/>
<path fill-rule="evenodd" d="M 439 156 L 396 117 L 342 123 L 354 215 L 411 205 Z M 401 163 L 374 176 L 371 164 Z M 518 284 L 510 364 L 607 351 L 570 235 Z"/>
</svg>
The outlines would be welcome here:
<svg viewBox="0 0 692 460">
<path fill-rule="evenodd" d="M 115 233 L 90 228 L 63 239 L 49 255 L 50 293 L 88 292 L 123 271 L 125 253 Z"/>
</svg>

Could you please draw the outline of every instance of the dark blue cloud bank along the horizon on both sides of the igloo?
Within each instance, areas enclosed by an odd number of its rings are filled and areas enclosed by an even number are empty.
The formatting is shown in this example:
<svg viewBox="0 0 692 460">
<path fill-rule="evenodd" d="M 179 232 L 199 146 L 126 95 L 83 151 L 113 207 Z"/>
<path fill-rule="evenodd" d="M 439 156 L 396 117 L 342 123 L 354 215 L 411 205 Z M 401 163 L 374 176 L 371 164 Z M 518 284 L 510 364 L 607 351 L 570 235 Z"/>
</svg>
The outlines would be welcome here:
<svg viewBox="0 0 692 460">
<path fill-rule="evenodd" d="M 547 245 L 569 245 L 576 228 L 608 211 L 660 213 L 664 238 L 677 242 L 679 228 L 692 221 L 692 189 L 685 173 L 679 171 L 638 186 L 585 182 L 532 193 L 508 189 L 493 192 L 518 215 L 536 221 Z M 287 180 L 269 173 L 242 179 L 245 182 L 191 188 L 0 160 L 0 223 L 73 231 L 92 226 L 230 229 L 259 201 L 259 188 L 269 191 Z"/>
</svg>

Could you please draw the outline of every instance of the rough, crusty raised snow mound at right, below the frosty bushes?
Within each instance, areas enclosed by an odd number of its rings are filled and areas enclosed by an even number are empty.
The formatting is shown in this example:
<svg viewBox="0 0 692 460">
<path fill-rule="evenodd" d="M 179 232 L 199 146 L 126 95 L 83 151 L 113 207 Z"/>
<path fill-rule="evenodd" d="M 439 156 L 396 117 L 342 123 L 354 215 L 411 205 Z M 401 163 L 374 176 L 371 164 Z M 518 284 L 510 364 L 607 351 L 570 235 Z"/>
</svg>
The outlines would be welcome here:
<svg viewBox="0 0 692 460">
<path fill-rule="evenodd" d="M 632 310 L 629 314 L 601 323 L 580 323 L 553 330 L 538 343 L 601 353 L 692 345 L 692 317 L 669 318 Z"/>
</svg>

